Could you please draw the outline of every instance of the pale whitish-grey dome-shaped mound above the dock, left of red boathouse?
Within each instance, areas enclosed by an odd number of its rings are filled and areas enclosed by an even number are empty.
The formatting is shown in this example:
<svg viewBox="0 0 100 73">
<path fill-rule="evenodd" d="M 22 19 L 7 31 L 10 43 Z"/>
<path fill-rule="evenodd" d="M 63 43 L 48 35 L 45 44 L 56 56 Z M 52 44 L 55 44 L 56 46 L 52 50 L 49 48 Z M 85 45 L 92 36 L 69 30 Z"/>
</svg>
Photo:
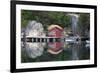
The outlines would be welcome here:
<svg viewBox="0 0 100 73">
<path fill-rule="evenodd" d="M 36 21 L 29 22 L 26 27 L 26 37 L 44 37 L 44 28 L 41 23 L 37 23 Z"/>
</svg>

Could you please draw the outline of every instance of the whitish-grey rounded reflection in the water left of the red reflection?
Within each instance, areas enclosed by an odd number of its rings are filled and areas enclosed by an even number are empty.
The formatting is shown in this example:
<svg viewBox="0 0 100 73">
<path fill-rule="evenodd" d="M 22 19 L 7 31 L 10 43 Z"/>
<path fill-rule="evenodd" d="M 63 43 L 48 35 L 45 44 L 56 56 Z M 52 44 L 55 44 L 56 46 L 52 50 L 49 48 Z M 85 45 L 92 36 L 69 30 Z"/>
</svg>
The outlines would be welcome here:
<svg viewBox="0 0 100 73">
<path fill-rule="evenodd" d="M 43 46 L 43 43 L 27 43 L 26 52 L 30 58 L 36 58 L 43 54 Z"/>
</svg>

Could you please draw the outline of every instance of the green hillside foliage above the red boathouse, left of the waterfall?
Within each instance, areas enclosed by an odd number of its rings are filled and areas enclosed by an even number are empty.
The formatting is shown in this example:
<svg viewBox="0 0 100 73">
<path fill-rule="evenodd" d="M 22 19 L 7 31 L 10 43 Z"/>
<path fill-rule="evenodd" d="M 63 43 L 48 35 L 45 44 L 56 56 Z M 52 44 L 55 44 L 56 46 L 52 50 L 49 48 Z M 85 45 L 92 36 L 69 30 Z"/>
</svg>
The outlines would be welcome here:
<svg viewBox="0 0 100 73">
<path fill-rule="evenodd" d="M 64 12 L 22 10 L 22 27 L 26 27 L 31 20 L 42 23 L 44 28 L 47 28 L 51 24 L 57 24 L 61 27 L 69 27 L 71 25 L 70 17 L 66 16 Z"/>
</svg>

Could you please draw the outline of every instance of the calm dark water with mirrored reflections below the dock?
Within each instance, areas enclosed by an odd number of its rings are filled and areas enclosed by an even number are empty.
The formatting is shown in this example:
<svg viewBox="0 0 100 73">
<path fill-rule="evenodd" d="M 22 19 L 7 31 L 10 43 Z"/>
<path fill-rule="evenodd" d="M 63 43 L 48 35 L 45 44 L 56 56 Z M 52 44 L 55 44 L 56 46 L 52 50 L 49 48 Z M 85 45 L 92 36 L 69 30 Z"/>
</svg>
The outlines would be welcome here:
<svg viewBox="0 0 100 73">
<path fill-rule="evenodd" d="M 87 60 L 90 59 L 90 47 L 86 42 L 80 43 L 67 43 L 59 42 L 60 49 L 56 51 L 51 50 L 54 47 L 54 43 L 36 43 L 27 42 L 25 46 L 21 48 L 21 62 L 47 62 L 47 61 L 69 61 L 69 60 Z M 55 52 L 54 52 L 55 51 Z"/>
</svg>

